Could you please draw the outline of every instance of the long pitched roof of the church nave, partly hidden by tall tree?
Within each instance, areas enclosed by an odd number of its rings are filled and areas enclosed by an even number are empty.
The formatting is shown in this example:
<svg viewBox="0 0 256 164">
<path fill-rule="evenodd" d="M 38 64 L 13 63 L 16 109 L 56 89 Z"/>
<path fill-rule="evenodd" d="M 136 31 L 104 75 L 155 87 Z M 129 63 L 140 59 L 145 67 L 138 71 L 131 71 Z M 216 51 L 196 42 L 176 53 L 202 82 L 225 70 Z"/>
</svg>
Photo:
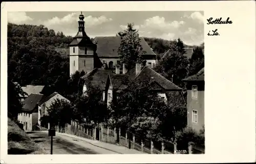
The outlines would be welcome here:
<svg viewBox="0 0 256 164">
<path fill-rule="evenodd" d="M 95 37 L 93 43 L 97 44 L 96 53 L 98 57 L 119 57 L 118 47 L 120 46 L 121 38 L 122 37 Z M 142 37 L 140 37 L 140 41 L 143 50 L 146 51 L 145 54 L 156 55 Z"/>
</svg>

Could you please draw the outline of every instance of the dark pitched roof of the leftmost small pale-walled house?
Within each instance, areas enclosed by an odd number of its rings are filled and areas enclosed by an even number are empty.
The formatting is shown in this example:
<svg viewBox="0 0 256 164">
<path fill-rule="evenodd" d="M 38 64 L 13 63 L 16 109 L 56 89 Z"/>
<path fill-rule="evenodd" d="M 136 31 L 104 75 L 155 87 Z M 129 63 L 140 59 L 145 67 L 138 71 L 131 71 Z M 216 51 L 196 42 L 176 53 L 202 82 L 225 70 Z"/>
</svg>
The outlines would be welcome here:
<svg viewBox="0 0 256 164">
<path fill-rule="evenodd" d="M 24 101 L 23 111 L 30 113 L 37 112 L 37 103 L 42 99 L 42 94 L 30 94 Z"/>
</svg>

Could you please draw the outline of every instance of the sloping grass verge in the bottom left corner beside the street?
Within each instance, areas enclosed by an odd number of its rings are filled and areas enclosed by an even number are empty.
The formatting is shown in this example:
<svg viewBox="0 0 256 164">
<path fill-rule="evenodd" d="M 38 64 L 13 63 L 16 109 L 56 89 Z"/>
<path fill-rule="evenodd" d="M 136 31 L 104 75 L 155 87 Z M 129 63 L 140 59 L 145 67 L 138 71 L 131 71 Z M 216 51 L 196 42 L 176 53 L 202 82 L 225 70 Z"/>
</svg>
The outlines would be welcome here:
<svg viewBox="0 0 256 164">
<path fill-rule="evenodd" d="M 8 118 L 8 154 L 49 154 Z"/>
</svg>

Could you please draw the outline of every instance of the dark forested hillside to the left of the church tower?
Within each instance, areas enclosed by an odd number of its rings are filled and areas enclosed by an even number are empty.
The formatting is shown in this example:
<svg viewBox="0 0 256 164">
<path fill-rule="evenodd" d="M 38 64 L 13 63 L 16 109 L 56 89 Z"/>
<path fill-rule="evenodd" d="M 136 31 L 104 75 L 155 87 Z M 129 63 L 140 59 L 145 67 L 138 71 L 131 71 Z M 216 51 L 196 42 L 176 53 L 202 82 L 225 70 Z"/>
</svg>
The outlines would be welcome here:
<svg viewBox="0 0 256 164">
<path fill-rule="evenodd" d="M 69 58 L 55 48 L 67 48 L 71 41 L 43 25 L 8 23 L 8 78 L 21 86 L 51 85 L 60 91 L 70 78 Z"/>
</svg>

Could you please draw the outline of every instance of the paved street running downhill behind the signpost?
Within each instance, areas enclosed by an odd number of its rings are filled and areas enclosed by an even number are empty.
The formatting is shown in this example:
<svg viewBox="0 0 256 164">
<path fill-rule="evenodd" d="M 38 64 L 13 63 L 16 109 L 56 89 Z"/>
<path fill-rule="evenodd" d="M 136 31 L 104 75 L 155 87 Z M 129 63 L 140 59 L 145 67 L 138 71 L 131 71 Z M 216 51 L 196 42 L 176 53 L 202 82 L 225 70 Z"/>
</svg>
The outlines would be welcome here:
<svg viewBox="0 0 256 164">
<path fill-rule="evenodd" d="M 51 137 L 48 132 L 33 131 L 28 135 L 46 151 L 51 151 Z M 53 137 L 53 154 L 118 154 L 90 143 L 56 133 Z"/>
</svg>

